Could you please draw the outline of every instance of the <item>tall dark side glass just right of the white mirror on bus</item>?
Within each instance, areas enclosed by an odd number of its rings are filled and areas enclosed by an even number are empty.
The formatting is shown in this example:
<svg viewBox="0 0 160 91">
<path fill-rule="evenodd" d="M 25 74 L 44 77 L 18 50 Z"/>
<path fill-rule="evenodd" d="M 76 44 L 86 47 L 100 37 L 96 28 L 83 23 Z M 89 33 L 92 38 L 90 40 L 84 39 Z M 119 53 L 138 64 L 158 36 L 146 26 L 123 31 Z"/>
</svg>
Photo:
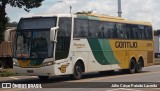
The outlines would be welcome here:
<svg viewBox="0 0 160 91">
<path fill-rule="evenodd" d="M 56 43 L 56 60 L 68 57 L 71 39 L 71 18 L 59 19 L 59 31 Z"/>
</svg>

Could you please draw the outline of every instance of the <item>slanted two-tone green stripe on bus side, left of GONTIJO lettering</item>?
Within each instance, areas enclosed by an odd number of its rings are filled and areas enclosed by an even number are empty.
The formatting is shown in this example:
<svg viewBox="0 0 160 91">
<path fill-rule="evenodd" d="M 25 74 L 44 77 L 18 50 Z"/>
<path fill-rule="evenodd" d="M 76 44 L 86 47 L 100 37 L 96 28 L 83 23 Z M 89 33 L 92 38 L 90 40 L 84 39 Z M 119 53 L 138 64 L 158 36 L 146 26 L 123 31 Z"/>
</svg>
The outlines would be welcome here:
<svg viewBox="0 0 160 91">
<path fill-rule="evenodd" d="M 88 38 L 88 43 L 99 64 L 118 64 L 107 39 Z"/>
</svg>

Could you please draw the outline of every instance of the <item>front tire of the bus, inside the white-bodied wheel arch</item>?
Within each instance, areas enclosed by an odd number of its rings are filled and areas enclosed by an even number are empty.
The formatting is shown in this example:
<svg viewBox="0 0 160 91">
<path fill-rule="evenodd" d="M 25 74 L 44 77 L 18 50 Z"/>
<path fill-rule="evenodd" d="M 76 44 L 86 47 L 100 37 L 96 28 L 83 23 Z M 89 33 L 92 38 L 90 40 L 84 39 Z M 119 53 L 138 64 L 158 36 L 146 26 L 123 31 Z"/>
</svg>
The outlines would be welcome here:
<svg viewBox="0 0 160 91">
<path fill-rule="evenodd" d="M 74 80 L 79 80 L 82 78 L 82 64 L 80 62 L 75 64 L 72 78 Z"/>
</svg>

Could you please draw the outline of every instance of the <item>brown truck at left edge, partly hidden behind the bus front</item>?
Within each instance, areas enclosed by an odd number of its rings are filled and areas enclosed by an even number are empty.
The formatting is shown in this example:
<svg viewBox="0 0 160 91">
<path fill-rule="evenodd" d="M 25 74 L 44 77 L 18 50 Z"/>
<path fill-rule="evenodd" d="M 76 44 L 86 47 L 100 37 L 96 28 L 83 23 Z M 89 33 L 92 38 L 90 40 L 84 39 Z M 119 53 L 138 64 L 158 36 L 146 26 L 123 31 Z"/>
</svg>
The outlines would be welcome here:
<svg viewBox="0 0 160 91">
<path fill-rule="evenodd" d="M 0 69 L 13 67 L 12 52 L 15 31 L 14 27 L 5 31 L 5 38 L 8 38 L 8 41 L 2 41 L 0 44 Z M 10 37 L 7 37 L 6 33 L 9 33 Z"/>
</svg>

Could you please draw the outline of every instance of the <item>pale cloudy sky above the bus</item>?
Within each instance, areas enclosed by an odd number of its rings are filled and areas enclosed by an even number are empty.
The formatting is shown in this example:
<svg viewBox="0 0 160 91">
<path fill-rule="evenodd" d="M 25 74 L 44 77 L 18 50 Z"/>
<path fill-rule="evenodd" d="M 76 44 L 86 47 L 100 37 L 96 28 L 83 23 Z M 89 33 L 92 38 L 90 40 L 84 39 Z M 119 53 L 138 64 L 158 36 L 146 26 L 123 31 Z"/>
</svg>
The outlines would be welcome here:
<svg viewBox="0 0 160 91">
<path fill-rule="evenodd" d="M 117 16 L 117 0 L 45 0 L 39 8 L 31 9 L 29 13 L 23 9 L 6 7 L 10 22 L 18 22 L 21 17 L 38 14 L 67 14 L 81 11 L 92 11 L 97 14 Z M 61 0 L 62 1 L 62 0 Z M 153 29 L 160 29 L 160 0 L 121 0 L 122 18 L 133 21 L 151 22 Z M 67 4 L 67 5 L 66 5 Z"/>
</svg>

